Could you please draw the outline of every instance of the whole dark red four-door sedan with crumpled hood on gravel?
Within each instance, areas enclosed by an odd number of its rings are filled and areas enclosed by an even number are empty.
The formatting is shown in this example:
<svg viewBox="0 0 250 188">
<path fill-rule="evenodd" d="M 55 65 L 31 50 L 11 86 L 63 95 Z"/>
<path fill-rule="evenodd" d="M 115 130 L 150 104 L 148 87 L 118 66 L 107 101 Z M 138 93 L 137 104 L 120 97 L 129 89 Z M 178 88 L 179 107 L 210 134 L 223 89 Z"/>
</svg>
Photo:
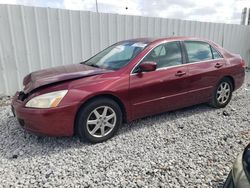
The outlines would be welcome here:
<svg viewBox="0 0 250 188">
<path fill-rule="evenodd" d="M 28 131 L 101 142 L 124 121 L 199 103 L 225 107 L 244 66 L 212 41 L 126 40 L 85 62 L 30 73 L 12 111 Z"/>
</svg>

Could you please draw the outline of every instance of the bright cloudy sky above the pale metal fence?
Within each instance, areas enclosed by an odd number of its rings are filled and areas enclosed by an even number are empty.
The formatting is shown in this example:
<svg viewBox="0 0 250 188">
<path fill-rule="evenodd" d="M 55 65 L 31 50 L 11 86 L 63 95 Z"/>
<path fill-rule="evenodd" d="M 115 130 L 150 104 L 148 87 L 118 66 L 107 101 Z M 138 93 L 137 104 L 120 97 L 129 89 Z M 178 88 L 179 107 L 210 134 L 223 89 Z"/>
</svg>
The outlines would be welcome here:
<svg viewBox="0 0 250 188">
<path fill-rule="evenodd" d="M 239 24 L 250 0 L 97 0 L 99 12 Z M 20 4 L 96 11 L 95 0 L 0 0 Z M 128 9 L 126 9 L 126 7 Z"/>
</svg>

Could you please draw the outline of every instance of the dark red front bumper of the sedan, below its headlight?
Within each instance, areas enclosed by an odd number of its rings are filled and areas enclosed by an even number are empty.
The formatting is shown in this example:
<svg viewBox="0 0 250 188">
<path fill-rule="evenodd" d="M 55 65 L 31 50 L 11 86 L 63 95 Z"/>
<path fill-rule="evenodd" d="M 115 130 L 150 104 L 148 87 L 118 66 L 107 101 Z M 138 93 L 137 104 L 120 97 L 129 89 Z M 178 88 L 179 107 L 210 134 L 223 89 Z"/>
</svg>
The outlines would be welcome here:
<svg viewBox="0 0 250 188">
<path fill-rule="evenodd" d="M 18 100 L 18 93 L 11 104 L 12 112 L 20 125 L 29 132 L 47 136 L 72 136 L 76 105 L 51 109 L 26 108 L 25 102 Z"/>
</svg>

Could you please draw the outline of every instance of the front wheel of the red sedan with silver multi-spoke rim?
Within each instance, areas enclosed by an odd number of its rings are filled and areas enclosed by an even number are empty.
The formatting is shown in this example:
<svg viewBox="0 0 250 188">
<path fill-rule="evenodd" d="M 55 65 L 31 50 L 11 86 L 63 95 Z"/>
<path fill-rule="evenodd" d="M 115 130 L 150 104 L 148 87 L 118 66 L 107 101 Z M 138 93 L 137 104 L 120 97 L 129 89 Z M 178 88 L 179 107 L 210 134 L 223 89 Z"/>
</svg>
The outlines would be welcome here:
<svg viewBox="0 0 250 188">
<path fill-rule="evenodd" d="M 109 98 L 97 98 L 78 112 L 76 131 L 81 140 L 99 143 L 113 137 L 122 124 L 119 105 Z"/>
</svg>

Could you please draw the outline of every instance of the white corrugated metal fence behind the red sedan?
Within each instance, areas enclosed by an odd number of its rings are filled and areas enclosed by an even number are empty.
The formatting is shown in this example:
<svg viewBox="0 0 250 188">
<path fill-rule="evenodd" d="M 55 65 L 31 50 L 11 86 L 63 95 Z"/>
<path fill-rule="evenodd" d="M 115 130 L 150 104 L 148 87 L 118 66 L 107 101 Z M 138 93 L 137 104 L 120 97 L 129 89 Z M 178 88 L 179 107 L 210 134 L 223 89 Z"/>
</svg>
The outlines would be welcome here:
<svg viewBox="0 0 250 188">
<path fill-rule="evenodd" d="M 136 37 L 197 36 L 250 61 L 250 27 L 165 18 L 0 5 L 0 93 L 22 89 L 31 71 L 78 63 Z"/>
</svg>

